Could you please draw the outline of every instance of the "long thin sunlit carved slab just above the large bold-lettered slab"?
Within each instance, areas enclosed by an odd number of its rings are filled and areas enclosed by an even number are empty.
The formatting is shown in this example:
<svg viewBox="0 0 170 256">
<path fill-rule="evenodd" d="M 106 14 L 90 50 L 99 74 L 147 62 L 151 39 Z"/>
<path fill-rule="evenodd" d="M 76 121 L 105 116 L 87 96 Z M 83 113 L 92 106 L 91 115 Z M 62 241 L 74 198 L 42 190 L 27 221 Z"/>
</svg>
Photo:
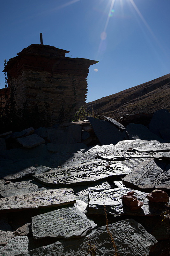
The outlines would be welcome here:
<svg viewBox="0 0 170 256">
<path fill-rule="evenodd" d="M 132 157 L 144 157 L 150 158 L 154 157 L 154 153 L 146 152 L 146 153 L 138 153 L 138 152 L 119 152 L 119 153 L 97 153 L 98 157 L 105 159 L 105 160 L 123 160 L 129 159 Z"/>
</svg>

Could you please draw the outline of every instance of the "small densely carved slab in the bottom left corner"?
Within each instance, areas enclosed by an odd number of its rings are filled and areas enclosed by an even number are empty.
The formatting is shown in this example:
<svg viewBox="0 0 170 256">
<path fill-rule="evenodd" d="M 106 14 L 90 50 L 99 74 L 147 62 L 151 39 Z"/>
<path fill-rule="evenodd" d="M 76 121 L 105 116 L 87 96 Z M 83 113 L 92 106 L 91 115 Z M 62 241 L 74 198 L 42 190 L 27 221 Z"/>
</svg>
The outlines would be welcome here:
<svg viewBox="0 0 170 256">
<path fill-rule="evenodd" d="M 1 256 L 13 256 L 24 252 L 28 252 L 27 236 L 15 236 L 9 240 L 3 248 L 0 249 Z"/>
</svg>

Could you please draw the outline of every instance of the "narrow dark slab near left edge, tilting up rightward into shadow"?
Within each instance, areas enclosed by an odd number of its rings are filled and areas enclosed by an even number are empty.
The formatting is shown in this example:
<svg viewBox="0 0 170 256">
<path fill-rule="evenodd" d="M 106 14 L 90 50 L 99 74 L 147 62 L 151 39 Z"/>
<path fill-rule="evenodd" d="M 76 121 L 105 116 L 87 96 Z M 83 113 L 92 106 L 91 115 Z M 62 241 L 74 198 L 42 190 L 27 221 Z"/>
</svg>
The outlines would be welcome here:
<svg viewBox="0 0 170 256">
<path fill-rule="evenodd" d="M 27 167 L 22 171 L 19 172 L 15 172 L 15 173 L 9 173 L 6 176 L 3 176 L 2 178 L 4 180 L 18 180 L 24 177 L 28 177 L 28 176 L 32 176 L 35 172 L 37 171 L 37 169 L 33 166 Z"/>
</svg>

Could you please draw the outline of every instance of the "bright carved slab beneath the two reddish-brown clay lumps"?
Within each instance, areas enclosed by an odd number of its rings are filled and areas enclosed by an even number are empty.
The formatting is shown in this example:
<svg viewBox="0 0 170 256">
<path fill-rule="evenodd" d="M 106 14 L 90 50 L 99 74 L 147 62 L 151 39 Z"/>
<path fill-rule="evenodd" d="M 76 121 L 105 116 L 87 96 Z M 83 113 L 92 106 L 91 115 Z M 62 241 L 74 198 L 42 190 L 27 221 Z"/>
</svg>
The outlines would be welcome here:
<svg viewBox="0 0 170 256">
<path fill-rule="evenodd" d="M 114 188 L 105 191 L 89 190 L 89 212 L 90 214 L 105 214 L 104 203 L 108 214 L 112 215 L 160 215 L 165 210 L 164 203 L 148 203 L 147 193 L 134 190 L 139 201 L 144 202 L 138 210 L 131 211 L 128 206 L 122 203 L 122 196 L 132 191 L 129 188 Z"/>
</svg>

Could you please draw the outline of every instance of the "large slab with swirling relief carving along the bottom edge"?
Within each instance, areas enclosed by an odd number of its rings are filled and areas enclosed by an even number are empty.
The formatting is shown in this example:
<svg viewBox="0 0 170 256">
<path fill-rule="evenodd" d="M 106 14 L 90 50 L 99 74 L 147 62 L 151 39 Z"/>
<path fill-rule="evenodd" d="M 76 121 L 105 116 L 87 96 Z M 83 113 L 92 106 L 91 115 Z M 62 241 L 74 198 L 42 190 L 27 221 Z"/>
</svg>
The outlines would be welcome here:
<svg viewBox="0 0 170 256">
<path fill-rule="evenodd" d="M 112 233 L 119 255 L 148 256 L 152 245 L 157 243 L 157 240 L 133 219 L 109 224 L 108 229 Z M 103 226 L 97 228 L 88 237 L 58 241 L 17 256 L 88 255 L 89 241 L 95 245 L 96 256 L 114 255 L 115 250 L 111 245 L 110 236 L 107 233 L 106 226 Z"/>
</svg>

